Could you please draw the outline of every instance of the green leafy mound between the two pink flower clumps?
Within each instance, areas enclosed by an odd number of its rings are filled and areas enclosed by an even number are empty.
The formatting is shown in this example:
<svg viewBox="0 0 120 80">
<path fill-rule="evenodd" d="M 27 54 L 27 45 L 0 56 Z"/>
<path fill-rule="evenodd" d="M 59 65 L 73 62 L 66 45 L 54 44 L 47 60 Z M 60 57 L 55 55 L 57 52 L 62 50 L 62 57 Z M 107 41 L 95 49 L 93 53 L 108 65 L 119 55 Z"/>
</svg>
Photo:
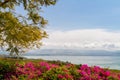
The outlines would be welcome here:
<svg viewBox="0 0 120 80">
<path fill-rule="evenodd" d="M 43 74 L 43 77 L 44 80 L 73 80 L 68 69 L 64 67 L 52 68 Z"/>
</svg>

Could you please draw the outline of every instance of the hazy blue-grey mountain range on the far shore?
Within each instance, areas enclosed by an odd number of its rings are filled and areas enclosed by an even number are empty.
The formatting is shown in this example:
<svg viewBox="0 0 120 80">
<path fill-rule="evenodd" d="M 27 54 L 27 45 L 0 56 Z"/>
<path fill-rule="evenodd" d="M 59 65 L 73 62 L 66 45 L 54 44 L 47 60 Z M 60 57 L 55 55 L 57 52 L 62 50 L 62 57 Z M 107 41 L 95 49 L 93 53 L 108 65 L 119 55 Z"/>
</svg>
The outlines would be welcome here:
<svg viewBox="0 0 120 80">
<path fill-rule="evenodd" d="M 40 49 L 30 51 L 25 56 L 120 56 L 118 51 L 78 50 L 78 49 Z"/>
</svg>

